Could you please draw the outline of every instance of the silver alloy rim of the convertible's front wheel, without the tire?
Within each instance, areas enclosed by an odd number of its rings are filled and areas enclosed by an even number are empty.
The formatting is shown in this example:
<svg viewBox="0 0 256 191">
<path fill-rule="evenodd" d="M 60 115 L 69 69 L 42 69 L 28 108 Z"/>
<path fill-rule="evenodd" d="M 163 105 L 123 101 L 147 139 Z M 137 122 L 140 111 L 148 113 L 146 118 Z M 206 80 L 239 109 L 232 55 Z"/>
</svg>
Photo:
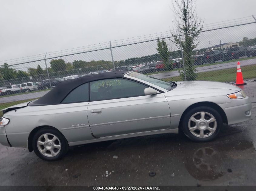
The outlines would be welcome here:
<svg viewBox="0 0 256 191">
<path fill-rule="evenodd" d="M 215 117 L 208 112 L 197 112 L 188 120 L 188 129 L 196 137 L 206 138 L 217 129 Z"/>
</svg>

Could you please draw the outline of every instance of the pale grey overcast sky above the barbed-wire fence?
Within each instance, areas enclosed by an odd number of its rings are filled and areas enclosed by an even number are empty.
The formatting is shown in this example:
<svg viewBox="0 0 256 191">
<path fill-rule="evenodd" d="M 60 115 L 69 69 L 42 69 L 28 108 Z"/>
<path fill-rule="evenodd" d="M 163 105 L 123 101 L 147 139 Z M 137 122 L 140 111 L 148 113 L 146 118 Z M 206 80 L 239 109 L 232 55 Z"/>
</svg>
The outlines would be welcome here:
<svg viewBox="0 0 256 191">
<path fill-rule="evenodd" d="M 175 20 L 171 0 L 0 3 L 0 61 L 168 31 Z M 197 0 L 196 5 L 205 24 L 256 14 L 255 0 Z"/>
</svg>

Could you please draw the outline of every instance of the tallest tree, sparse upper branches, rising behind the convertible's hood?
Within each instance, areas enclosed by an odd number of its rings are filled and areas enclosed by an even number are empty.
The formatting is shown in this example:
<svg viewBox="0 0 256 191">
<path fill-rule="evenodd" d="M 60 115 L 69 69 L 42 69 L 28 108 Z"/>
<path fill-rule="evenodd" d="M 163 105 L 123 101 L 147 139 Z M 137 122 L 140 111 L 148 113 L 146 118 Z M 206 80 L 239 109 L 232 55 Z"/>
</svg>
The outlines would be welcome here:
<svg viewBox="0 0 256 191">
<path fill-rule="evenodd" d="M 172 32 L 172 34 L 174 36 L 179 35 L 179 33 L 181 34 L 181 46 L 183 48 L 187 80 L 195 80 L 197 78 L 197 71 L 194 69 L 192 51 L 199 43 L 198 38 L 203 29 L 204 21 L 198 18 L 195 11 L 195 2 L 193 0 L 175 0 L 173 2 L 173 12 L 176 15 L 178 31 Z M 172 41 L 176 46 L 180 46 L 179 37 L 174 37 Z M 179 73 L 181 78 L 185 80 L 184 72 L 179 71 Z"/>
</svg>

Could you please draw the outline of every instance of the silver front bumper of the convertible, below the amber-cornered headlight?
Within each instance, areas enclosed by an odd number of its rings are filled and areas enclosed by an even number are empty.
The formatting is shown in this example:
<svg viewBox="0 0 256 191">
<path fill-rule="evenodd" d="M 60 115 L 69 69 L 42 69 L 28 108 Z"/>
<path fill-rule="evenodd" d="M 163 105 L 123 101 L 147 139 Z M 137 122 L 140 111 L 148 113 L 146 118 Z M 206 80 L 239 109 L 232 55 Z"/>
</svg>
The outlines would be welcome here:
<svg viewBox="0 0 256 191">
<path fill-rule="evenodd" d="M 231 103 L 220 104 L 228 119 L 228 125 L 241 123 L 251 119 L 251 102 L 249 97 L 232 100 Z M 249 111 L 247 114 L 245 112 Z"/>
</svg>

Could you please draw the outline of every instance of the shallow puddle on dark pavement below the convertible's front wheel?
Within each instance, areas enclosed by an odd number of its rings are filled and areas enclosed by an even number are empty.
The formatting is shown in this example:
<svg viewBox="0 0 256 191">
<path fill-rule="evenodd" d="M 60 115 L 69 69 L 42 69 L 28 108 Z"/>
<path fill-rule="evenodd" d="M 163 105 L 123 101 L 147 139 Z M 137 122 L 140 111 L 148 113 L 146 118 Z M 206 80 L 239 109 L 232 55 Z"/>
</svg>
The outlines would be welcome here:
<svg viewBox="0 0 256 191">
<path fill-rule="evenodd" d="M 228 174 L 228 168 L 234 165 L 234 160 L 247 158 L 241 154 L 252 148 L 255 150 L 256 142 L 248 140 L 227 141 L 225 145 L 222 142 L 214 146 L 195 148 L 184 160 L 185 168 L 197 180 L 213 181 Z"/>
</svg>

